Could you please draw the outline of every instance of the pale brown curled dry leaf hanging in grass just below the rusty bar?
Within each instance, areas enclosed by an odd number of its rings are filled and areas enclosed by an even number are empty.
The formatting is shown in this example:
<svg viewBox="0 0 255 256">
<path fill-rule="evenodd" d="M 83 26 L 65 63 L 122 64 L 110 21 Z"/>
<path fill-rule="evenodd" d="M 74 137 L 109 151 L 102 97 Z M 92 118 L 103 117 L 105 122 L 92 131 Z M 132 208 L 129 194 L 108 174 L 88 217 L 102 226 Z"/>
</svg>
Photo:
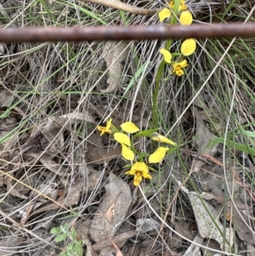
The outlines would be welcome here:
<svg viewBox="0 0 255 256">
<path fill-rule="evenodd" d="M 123 42 L 106 42 L 103 49 L 103 58 L 106 61 L 107 68 L 109 68 L 109 78 L 107 82 L 109 87 L 101 90 L 102 93 L 111 93 L 119 88 L 122 77 L 122 61 L 127 60 L 127 44 Z"/>
</svg>

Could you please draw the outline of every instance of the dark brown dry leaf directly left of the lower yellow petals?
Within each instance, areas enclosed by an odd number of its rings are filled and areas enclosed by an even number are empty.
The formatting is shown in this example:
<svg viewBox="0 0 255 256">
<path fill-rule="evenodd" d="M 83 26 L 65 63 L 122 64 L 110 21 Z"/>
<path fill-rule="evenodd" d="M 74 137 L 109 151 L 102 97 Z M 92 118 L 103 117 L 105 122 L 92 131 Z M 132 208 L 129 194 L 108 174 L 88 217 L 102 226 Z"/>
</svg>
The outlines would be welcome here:
<svg viewBox="0 0 255 256">
<path fill-rule="evenodd" d="M 97 147 L 91 145 L 88 147 L 88 152 L 86 156 L 88 162 L 92 164 L 102 164 L 104 162 L 110 162 L 113 159 L 117 159 L 121 156 L 122 147 L 116 146 L 116 148 L 109 147 L 109 150 L 105 147 Z"/>
</svg>

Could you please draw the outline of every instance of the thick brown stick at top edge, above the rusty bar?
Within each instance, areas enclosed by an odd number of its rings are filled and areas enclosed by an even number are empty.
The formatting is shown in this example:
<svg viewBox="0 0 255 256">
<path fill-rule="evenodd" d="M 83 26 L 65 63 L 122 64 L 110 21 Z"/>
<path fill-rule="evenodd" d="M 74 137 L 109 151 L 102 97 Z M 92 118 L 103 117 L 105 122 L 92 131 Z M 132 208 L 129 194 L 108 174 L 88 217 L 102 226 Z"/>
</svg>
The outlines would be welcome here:
<svg viewBox="0 0 255 256">
<path fill-rule="evenodd" d="M 144 8 L 139 8 L 132 6 L 127 3 L 122 3 L 116 0 L 85 0 L 85 2 L 89 3 L 96 3 L 99 5 L 103 5 L 106 7 L 111 7 L 114 9 L 120 9 L 122 11 L 125 11 L 127 13 L 131 14 L 139 14 L 139 15 L 144 15 L 144 16 L 151 16 L 154 15 L 158 12 L 157 9 L 144 9 Z"/>
</svg>

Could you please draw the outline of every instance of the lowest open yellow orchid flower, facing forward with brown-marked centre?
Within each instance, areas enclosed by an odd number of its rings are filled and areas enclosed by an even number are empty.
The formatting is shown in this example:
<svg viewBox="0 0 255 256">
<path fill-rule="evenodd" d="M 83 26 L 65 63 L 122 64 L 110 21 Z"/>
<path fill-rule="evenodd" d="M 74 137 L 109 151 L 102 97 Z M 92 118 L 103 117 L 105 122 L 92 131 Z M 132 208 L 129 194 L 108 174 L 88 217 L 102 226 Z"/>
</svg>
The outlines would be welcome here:
<svg viewBox="0 0 255 256">
<path fill-rule="evenodd" d="M 134 175 L 133 185 L 139 185 L 143 179 L 152 179 L 149 174 L 149 168 L 144 162 L 135 162 L 131 167 L 130 171 L 125 174 Z"/>
</svg>

